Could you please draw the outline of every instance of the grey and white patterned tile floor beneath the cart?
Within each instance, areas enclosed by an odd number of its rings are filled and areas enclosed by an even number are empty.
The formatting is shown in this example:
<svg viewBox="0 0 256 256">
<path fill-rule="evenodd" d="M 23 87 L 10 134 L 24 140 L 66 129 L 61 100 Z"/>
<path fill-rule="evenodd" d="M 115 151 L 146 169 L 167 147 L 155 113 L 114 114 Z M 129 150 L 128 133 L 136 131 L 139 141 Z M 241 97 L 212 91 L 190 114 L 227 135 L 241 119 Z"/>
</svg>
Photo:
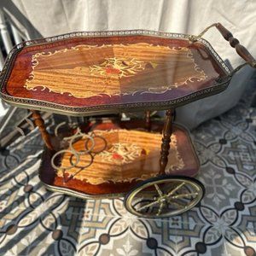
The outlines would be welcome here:
<svg viewBox="0 0 256 256">
<path fill-rule="evenodd" d="M 122 199 L 47 191 L 38 180 L 42 142 L 32 131 L 0 155 L 0 255 L 256 255 L 255 87 L 192 132 L 206 195 L 173 218 L 135 218 Z"/>
</svg>

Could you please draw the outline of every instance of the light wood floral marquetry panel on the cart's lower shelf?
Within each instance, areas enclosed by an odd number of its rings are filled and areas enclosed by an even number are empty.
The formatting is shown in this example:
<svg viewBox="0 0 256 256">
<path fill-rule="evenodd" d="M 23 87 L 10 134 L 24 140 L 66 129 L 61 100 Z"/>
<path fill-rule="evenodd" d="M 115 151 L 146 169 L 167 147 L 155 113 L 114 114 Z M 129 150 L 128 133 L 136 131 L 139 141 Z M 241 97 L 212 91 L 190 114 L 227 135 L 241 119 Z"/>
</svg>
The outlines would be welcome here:
<svg viewBox="0 0 256 256">
<path fill-rule="evenodd" d="M 161 134 L 145 131 L 127 131 L 125 129 L 110 131 L 93 131 L 95 147 L 92 152 L 99 152 L 93 156 L 90 164 L 89 154 L 81 154 L 79 164 L 65 171 L 67 177 L 91 184 L 131 182 L 154 177 L 159 172 Z M 101 139 L 104 138 L 105 140 Z M 107 142 L 107 147 L 105 143 Z M 77 151 L 84 150 L 86 138 L 73 144 Z M 89 145 L 90 146 L 90 145 Z M 105 148 L 101 151 L 101 148 Z M 93 154 L 93 153 L 92 153 Z M 65 153 L 61 160 L 61 168 L 70 166 L 72 156 Z M 87 166 L 81 168 L 81 166 Z M 166 172 L 182 170 L 184 162 L 177 150 L 177 137 L 172 134 L 169 164 Z M 57 176 L 63 177 L 61 170 Z"/>
</svg>

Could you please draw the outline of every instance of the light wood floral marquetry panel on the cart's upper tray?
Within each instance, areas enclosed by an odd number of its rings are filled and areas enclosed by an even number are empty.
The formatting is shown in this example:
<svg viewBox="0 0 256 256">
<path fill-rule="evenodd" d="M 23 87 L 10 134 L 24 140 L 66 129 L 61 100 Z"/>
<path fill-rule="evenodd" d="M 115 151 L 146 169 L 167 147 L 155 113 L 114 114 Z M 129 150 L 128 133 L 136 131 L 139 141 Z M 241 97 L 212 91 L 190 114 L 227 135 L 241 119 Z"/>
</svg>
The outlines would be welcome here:
<svg viewBox="0 0 256 256">
<path fill-rule="evenodd" d="M 164 93 L 203 81 L 190 49 L 147 43 L 78 45 L 32 55 L 27 90 L 87 98 Z"/>
</svg>

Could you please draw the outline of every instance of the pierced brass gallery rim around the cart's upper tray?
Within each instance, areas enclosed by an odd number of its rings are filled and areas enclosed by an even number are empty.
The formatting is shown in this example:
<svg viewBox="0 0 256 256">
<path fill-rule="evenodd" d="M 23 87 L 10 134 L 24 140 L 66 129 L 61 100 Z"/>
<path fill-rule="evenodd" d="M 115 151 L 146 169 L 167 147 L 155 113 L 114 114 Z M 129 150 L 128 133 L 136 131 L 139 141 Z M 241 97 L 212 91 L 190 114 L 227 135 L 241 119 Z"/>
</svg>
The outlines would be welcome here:
<svg viewBox="0 0 256 256">
<path fill-rule="evenodd" d="M 127 110 L 129 111 L 143 111 L 147 110 L 166 110 L 167 108 L 180 107 L 185 103 L 194 102 L 195 99 L 201 99 L 206 96 L 212 96 L 218 92 L 225 90 L 230 83 L 230 78 L 227 77 L 224 82 L 218 83 L 209 87 L 207 89 L 197 91 L 189 96 L 184 96 L 180 99 L 173 99 L 166 102 L 135 102 L 131 104 L 123 105 L 109 105 L 107 106 L 94 106 L 94 107 L 71 107 L 61 104 L 55 104 L 53 102 L 38 101 L 31 98 L 20 98 L 10 96 L 6 90 L 6 84 L 9 80 L 11 69 L 15 63 L 15 58 L 19 54 L 21 49 L 26 48 L 31 45 L 44 45 L 49 42 L 55 42 L 57 40 L 66 40 L 67 38 L 90 38 L 90 37 L 109 37 L 109 36 L 147 36 L 147 37 L 159 37 L 159 38 L 173 38 L 177 40 L 189 40 L 191 35 L 182 33 L 171 33 L 171 32 L 155 32 L 148 30 L 130 30 L 130 31 L 112 31 L 112 32 L 72 32 L 68 34 L 63 34 L 60 36 L 55 36 L 51 38 L 35 39 L 20 44 L 15 45 L 13 49 L 9 52 L 8 57 L 3 66 L 2 73 L 0 74 L 0 84 L 1 84 L 1 96 L 4 102 L 20 108 L 31 108 L 41 111 L 49 111 L 54 113 L 68 114 L 73 116 L 86 116 L 86 115 L 97 115 L 105 113 L 122 113 Z M 226 75 L 230 74 L 230 68 L 227 67 L 224 61 L 212 48 L 211 44 L 207 42 L 204 38 L 199 38 L 199 43 L 203 44 L 208 50 L 210 55 L 217 60 L 218 66 L 224 71 Z"/>
</svg>

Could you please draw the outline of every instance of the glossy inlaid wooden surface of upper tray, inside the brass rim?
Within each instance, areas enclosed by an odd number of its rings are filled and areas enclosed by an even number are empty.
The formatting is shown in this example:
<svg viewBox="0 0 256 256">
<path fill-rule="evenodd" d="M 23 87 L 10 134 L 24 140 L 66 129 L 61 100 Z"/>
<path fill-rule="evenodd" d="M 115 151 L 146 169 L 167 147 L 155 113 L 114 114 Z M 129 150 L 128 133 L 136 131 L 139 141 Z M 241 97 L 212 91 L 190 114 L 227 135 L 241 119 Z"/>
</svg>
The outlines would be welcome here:
<svg viewBox="0 0 256 256">
<path fill-rule="evenodd" d="M 209 50 L 188 39 L 68 38 L 21 49 L 2 93 L 111 111 L 109 106 L 188 96 L 225 76 Z"/>
</svg>

